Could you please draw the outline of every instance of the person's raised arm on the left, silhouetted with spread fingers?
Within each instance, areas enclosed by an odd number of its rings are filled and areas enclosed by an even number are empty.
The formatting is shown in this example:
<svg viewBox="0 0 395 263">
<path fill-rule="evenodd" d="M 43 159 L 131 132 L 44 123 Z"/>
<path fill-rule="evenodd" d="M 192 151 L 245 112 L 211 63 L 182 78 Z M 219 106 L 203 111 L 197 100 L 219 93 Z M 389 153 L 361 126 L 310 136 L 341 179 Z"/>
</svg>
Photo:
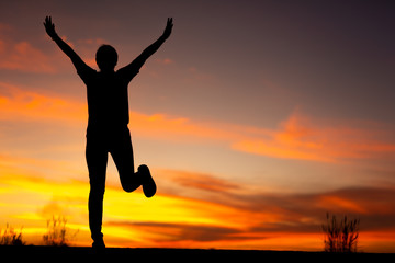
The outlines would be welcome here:
<svg viewBox="0 0 395 263">
<path fill-rule="evenodd" d="M 58 47 L 71 59 L 71 62 L 76 67 L 77 71 L 82 71 L 90 67 L 83 62 L 83 60 L 77 55 L 75 50 L 64 42 L 55 31 L 55 24 L 52 22 L 50 16 L 45 18 L 44 27 L 50 38 L 58 45 Z"/>
</svg>

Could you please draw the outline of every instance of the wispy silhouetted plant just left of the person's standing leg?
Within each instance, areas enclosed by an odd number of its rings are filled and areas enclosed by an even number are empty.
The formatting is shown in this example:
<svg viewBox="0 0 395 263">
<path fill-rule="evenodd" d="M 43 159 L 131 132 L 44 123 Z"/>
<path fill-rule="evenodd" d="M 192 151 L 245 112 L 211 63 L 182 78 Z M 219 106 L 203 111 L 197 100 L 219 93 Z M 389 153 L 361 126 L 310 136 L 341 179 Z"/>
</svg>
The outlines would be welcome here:
<svg viewBox="0 0 395 263">
<path fill-rule="evenodd" d="M 53 216 L 47 220 L 47 232 L 43 236 L 45 245 L 67 247 L 68 245 L 68 230 L 66 228 L 67 219 L 63 216 Z M 74 238 L 78 230 L 72 235 Z"/>
</svg>

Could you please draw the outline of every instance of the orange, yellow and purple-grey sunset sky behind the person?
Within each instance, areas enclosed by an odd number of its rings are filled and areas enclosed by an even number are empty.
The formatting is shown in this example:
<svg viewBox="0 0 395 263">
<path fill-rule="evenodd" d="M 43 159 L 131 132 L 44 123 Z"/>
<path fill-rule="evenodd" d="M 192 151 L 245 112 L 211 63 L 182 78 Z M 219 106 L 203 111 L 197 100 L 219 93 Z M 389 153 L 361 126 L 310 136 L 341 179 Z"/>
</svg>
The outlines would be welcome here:
<svg viewBox="0 0 395 263">
<path fill-rule="evenodd" d="M 68 219 L 90 245 L 86 87 L 46 35 L 97 69 L 173 32 L 129 84 L 136 165 L 109 159 L 108 247 L 323 250 L 326 213 L 360 218 L 360 250 L 395 252 L 393 1 L 0 2 L 0 229 L 40 244 Z"/>
</svg>

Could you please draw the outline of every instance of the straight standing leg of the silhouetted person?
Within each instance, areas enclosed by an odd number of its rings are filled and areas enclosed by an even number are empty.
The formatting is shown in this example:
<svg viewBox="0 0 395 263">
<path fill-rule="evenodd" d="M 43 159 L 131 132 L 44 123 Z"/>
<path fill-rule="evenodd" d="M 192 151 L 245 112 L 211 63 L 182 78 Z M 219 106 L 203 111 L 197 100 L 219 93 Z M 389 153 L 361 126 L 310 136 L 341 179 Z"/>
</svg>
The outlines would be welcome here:
<svg viewBox="0 0 395 263">
<path fill-rule="evenodd" d="M 86 158 L 89 170 L 90 193 L 88 201 L 89 227 L 94 243 L 103 242 L 101 232 L 103 220 L 103 197 L 105 190 L 105 171 L 108 152 L 103 141 L 87 136 Z M 103 243 L 104 244 L 104 243 Z"/>
</svg>

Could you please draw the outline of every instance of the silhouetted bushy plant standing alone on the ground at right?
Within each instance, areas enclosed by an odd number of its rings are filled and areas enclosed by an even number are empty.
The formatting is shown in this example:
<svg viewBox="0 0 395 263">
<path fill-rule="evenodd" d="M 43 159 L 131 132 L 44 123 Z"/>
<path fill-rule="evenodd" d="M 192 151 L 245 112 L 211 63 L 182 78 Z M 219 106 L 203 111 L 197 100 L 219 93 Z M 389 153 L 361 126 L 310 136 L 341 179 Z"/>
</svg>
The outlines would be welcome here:
<svg viewBox="0 0 395 263">
<path fill-rule="evenodd" d="M 337 220 L 327 214 L 327 224 L 323 225 L 326 252 L 357 252 L 360 219 L 349 220 L 347 216 Z"/>
</svg>

